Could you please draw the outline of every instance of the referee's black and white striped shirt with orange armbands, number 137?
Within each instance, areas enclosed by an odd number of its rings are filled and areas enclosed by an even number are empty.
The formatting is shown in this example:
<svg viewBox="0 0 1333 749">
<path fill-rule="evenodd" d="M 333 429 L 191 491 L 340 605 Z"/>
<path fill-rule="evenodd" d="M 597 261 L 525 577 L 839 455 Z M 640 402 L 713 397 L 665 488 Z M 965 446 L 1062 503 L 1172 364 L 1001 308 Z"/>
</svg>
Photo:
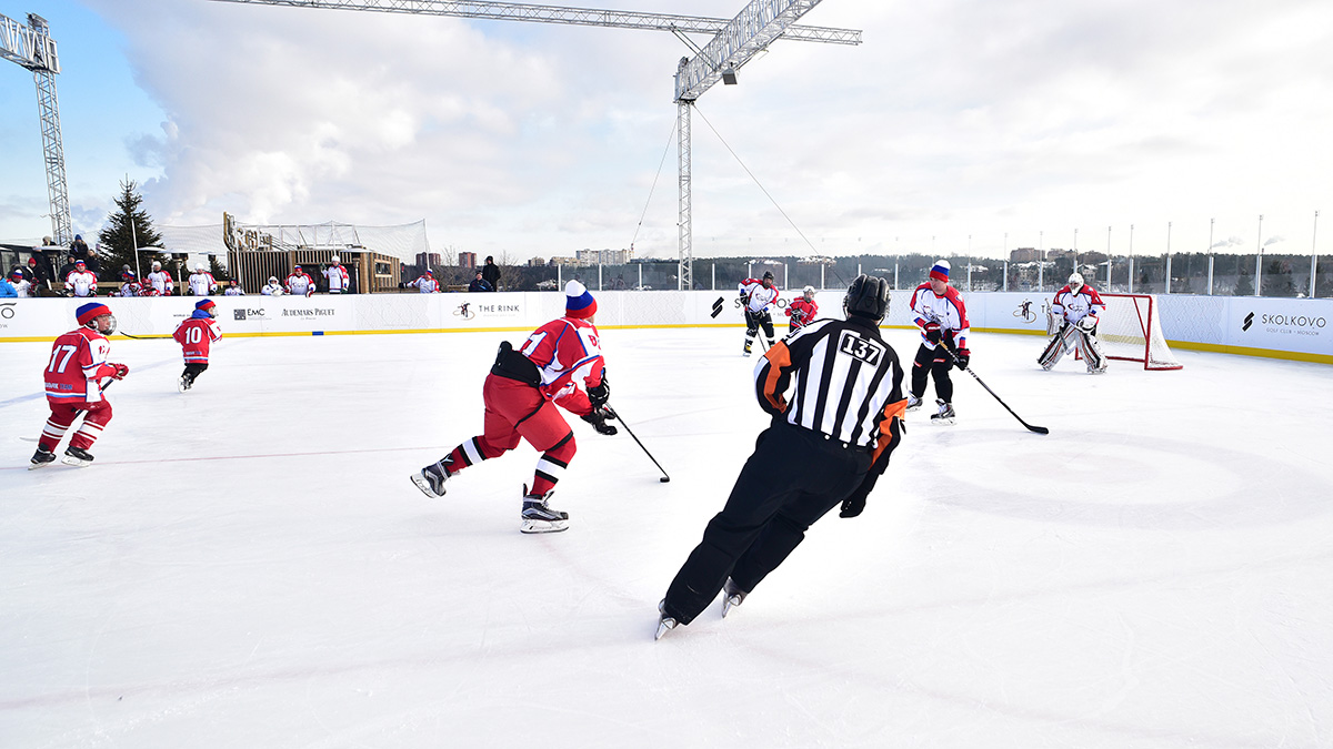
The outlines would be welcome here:
<svg viewBox="0 0 1333 749">
<path fill-rule="evenodd" d="M 857 316 L 816 320 L 774 344 L 754 368 L 754 392 L 770 414 L 876 453 L 906 406 L 897 352 Z"/>
</svg>

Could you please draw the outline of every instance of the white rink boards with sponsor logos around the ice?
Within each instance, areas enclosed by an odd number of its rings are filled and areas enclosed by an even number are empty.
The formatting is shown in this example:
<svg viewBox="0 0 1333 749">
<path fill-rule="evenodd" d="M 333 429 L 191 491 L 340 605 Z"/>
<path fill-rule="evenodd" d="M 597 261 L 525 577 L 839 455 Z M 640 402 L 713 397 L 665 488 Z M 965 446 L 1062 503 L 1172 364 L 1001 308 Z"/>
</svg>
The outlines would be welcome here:
<svg viewBox="0 0 1333 749">
<path fill-rule="evenodd" d="M 741 325 L 732 291 L 595 292 L 599 328 Z M 781 308 L 796 296 L 784 292 Z M 893 292 L 885 325 L 910 327 L 910 291 Z M 966 293 L 972 328 L 1000 333 L 1045 333 L 1050 292 Z M 557 292 L 352 295 L 313 297 L 212 297 L 228 336 L 323 336 L 531 331 L 557 317 Z M 1172 347 L 1333 364 L 1333 300 L 1170 295 L 1156 297 Z M 99 299 L 116 315 L 119 331 L 135 337 L 169 336 L 195 307 L 193 297 Z M 818 292 L 820 315 L 841 315 L 842 292 Z M 87 300 L 0 301 L 0 343 L 48 341 L 71 328 Z M 718 304 L 720 303 L 720 304 Z M 782 309 L 773 315 L 786 327 Z"/>
</svg>

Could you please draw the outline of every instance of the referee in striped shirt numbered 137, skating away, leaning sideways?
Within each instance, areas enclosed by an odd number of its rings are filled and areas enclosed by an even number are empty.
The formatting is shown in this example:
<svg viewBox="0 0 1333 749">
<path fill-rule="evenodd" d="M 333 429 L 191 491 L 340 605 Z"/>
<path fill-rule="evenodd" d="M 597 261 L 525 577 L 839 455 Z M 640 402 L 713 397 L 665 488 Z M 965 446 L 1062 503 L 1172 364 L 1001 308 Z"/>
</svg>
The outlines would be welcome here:
<svg viewBox="0 0 1333 749">
<path fill-rule="evenodd" d="M 888 283 L 858 276 L 842 309 L 845 321 L 814 320 L 768 349 L 754 369 L 760 408 L 773 424 L 666 589 L 659 638 L 694 621 L 718 590 L 726 616 L 838 504 L 841 517 L 865 509 L 901 438 L 906 400 L 898 355 L 880 337 Z"/>
</svg>

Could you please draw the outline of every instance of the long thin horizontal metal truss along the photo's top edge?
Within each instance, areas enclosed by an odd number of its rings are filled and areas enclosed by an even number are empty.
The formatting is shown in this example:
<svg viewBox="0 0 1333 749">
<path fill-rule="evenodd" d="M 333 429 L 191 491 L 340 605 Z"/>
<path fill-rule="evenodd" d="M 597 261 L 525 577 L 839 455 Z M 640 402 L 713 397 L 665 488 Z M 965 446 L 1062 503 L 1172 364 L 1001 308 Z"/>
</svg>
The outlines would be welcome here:
<svg viewBox="0 0 1333 749">
<path fill-rule="evenodd" d="M 456 0 L 215 0 L 244 5 L 285 5 L 291 8 L 324 8 L 336 11 L 371 11 L 379 13 L 409 13 L 416 16 L 451 16 L 457 19 L 489 19 L 495 21 L 529 21 L 539 24 L 565 24 L 585 27 L 635 28 L 681 33 L 716 35 L 729 23 L 726 19 L 706 16 L 678 16 L 672 13 L 643 13 L 637 11 L 604 11 L 597 8 L 569 8 L 563 5 L 529 5 L 525 3 L 484 3 Z M 828 44 L 860 44 L 861 32 L 845 28 L 801 27 L 786 28 L 781 39 L 792 41 L 822 41 Z"/>
</svg>

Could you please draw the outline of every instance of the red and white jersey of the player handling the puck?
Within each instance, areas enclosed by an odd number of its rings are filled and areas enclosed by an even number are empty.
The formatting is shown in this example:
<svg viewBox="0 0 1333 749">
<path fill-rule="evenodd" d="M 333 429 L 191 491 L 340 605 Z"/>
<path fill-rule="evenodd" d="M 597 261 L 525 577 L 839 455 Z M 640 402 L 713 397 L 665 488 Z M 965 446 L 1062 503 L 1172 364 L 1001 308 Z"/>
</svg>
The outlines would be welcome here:
<svg viewBox="0 0 1333 749">
<path fill-rule="evenodd" d="M 585 388 L 601 384 L 601 343 L 587 320 L 561 317 L 528 336 L 520 353 L 541 372 L 541 393 L 579 416 L 592 412 Z"/>
</svg>

